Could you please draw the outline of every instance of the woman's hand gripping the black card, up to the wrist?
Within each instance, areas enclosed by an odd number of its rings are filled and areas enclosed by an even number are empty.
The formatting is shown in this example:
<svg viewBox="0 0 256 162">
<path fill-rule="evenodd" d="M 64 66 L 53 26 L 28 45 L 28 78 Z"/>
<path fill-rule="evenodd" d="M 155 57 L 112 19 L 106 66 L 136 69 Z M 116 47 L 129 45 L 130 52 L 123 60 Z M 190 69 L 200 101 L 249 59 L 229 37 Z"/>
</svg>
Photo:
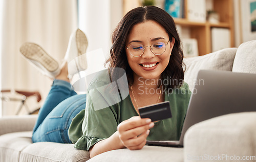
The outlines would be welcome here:
<svg viewBox="0 0 256 162">
<path fill-rule="evenodd" d="M 121 122 L 117 131 L 121 143 L 130 150 L 142 149 L 146 144 L 146 137 L 150 133 L 150 128 L 154 127 L 151 119 L 132 117 Z"/>
</svg>

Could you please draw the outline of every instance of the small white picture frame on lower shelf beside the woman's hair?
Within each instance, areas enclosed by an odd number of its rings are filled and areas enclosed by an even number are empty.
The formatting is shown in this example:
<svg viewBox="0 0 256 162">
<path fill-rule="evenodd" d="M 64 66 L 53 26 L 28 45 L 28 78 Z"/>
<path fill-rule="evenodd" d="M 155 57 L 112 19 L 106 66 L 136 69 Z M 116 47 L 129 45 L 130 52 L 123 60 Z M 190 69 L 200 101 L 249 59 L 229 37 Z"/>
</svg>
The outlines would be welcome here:
<svg viewBox="0 0 256 162">
<path fill-rule="evenodd" d="M 183 38 L 183 54 L 184 57 L 195 57 L 198 56 L 198 43 L 197 39 L 194 38 Z"/>
</svg>

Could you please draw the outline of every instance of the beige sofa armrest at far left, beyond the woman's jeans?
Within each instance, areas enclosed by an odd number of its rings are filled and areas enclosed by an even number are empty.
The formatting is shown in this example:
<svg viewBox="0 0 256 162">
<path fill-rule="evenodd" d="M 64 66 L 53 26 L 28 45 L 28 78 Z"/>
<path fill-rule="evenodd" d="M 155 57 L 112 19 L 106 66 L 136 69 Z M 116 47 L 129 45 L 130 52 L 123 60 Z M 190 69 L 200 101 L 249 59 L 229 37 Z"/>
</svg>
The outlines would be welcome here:
<svg viewBox="0 0 256 162">
<path fill-rule="evenodd" d="M 32 131 L 38 115 L 8 116 L 0 118 L 0 135 L 19 132 Z"/>
</svg>

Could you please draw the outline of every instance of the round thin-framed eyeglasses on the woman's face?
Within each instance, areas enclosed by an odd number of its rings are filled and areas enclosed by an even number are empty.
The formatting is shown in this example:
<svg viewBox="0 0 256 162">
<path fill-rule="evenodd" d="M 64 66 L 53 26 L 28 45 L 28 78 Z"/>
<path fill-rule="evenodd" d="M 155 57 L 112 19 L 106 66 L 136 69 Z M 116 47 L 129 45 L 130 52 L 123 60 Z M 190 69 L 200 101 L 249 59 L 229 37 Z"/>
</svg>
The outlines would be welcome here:
<svg viewBox="0 0 256 162">
<path fill-rule="evenodd" d="M 144 49 L 146 47 L 150 47 L 150 51 L 155 54 L 155 55 L 162 55 L 165 50 L 166 50 L 166 45 L 169 43 L 168 42 L 165 44 L 164 42 L 157 42 L 154 43 L 152 45 L 147 45 L 147 46 L 143 46 L 141 44 L 132 44 L 129 47 L 126 47 L 126 49 L 129 50 L 129 53 L 134 56 L 134 57 L 140 57 L 144 54 Z"/>
</svg>

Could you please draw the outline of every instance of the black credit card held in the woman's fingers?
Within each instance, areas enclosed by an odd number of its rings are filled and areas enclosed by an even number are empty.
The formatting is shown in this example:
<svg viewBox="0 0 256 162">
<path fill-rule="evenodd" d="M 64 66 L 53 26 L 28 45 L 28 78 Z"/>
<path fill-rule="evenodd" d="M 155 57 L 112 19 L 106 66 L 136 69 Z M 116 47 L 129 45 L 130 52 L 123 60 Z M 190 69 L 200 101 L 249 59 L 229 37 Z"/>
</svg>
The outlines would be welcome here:
<svg viewBox="0 0 256 162">
<path fill-rule="evenodd" d="M 140 118 L 150 118 L 152 122 L 172 118 L 169 101 L 138 108 Z"/>
</svg>

